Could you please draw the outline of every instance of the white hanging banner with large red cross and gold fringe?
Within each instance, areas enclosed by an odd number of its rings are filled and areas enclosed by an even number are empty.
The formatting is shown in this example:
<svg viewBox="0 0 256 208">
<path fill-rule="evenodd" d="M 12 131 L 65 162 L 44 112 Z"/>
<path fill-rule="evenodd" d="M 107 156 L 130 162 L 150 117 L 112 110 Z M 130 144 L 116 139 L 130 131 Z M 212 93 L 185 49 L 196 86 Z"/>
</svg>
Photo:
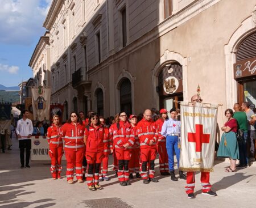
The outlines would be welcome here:
<svg viewBox="0 0 256 208">
<path fill-rule="evenodd" d="M 181 102 L 180 170 L 213 172 L 218 105 Z"/>
</svg>

